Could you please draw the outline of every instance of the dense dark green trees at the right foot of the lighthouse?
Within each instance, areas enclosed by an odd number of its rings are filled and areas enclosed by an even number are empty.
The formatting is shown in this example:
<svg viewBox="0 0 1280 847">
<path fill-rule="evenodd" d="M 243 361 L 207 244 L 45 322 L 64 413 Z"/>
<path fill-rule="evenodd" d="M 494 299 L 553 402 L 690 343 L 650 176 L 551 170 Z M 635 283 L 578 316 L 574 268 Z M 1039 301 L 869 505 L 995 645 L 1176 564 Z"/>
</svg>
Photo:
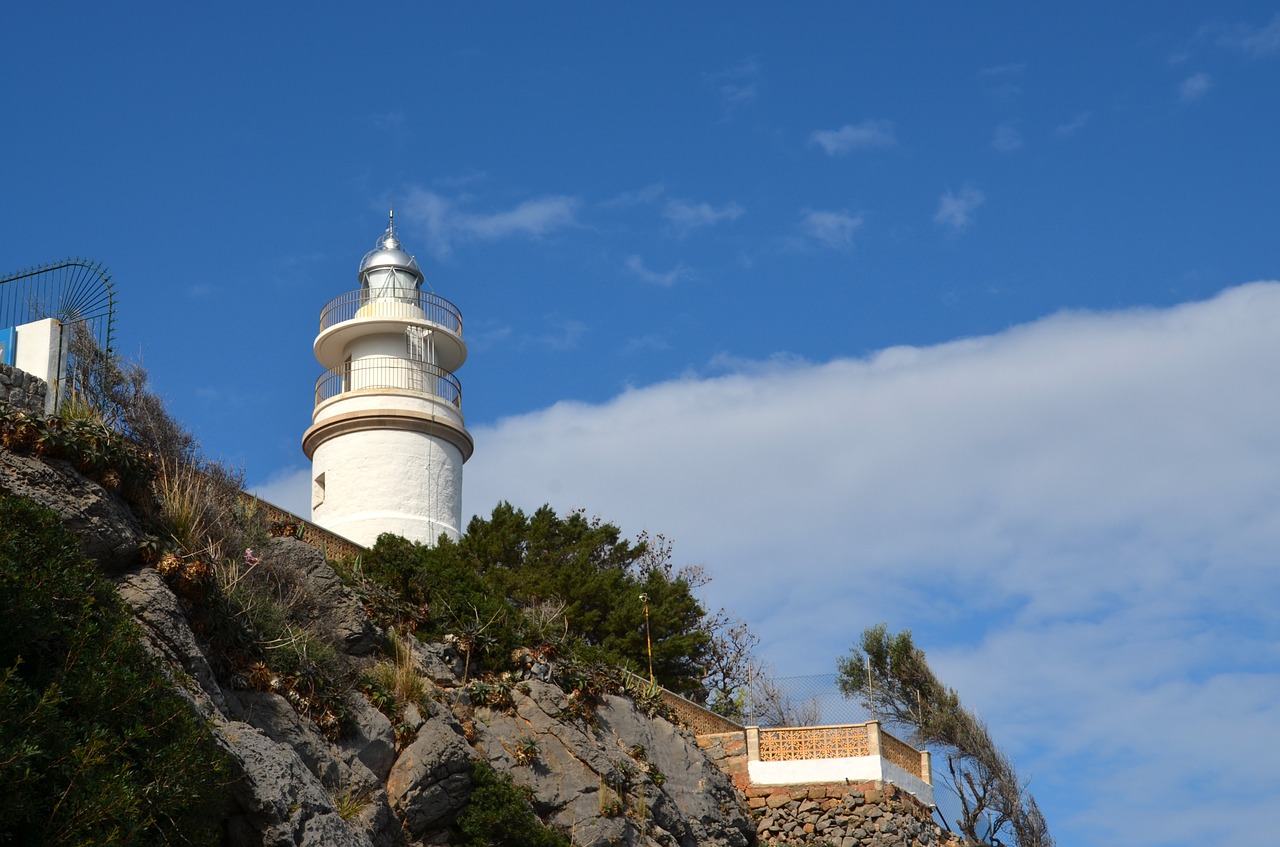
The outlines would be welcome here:
<svg viewBox="0 0 1280 847">
<path fill-rule="evenodd" d="M 434 546 L 384 535 L 364 572 L 393 586 L 424 637 L 460 637 L 490 670 L 520 647 L 649 674 L 696 700 L 718 633 L 694 595 L 698 573 L 673 567 L 662 539 L 636 544 L 612 523 L 544 505 L 499 503 L 458 541 Z M 648 613 L 646 613 L 648 610 Z"/>
</svg>

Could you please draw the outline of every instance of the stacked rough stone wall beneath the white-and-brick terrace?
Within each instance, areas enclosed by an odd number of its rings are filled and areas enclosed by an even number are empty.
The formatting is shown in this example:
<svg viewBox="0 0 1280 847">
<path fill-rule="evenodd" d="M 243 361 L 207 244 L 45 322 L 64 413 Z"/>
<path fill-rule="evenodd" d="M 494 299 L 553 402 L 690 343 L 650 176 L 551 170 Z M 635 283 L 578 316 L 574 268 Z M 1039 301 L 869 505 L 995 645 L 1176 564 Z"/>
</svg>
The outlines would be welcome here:
<svg viewBox="0 0 1280 847">
<path fill-rule="evenodd" d="M 760 847 L 960 847 L 911 795 L 886 783 L 748 788 Z"/>
</svg>

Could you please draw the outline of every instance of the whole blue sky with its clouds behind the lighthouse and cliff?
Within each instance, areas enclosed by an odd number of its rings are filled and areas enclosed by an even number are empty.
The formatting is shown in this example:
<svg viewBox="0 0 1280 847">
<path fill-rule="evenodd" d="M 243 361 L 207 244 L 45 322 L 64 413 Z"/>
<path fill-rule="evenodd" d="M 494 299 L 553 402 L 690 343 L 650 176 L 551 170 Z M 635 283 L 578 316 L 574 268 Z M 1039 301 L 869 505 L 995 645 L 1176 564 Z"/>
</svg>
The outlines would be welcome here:
<svg viewBox="0 0 1280 847">
<path fill-rule="evenodd" d="M 394 206 L 468 513 L 667 534 L 782 676 L 911 628 L 1061 844 L 1270 843 L 1280 5 L 691 5 L 6 4 L 0 271 L 305 504 Z"/>
</svg>

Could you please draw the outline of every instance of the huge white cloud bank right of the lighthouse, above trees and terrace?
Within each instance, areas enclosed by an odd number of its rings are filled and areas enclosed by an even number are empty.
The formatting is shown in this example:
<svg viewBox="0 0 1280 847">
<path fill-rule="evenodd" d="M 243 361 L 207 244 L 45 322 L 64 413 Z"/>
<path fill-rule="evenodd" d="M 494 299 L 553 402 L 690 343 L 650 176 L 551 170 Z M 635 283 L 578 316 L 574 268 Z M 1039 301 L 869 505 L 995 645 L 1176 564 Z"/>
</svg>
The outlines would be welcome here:
<svg viewBox="0 0 1280 847">
<path fill-rule="evenodd" d="M 910 627 L 1060 843 L 1258 843 L 1280 795 L 1258 756 L 1280 746 L 1275 362 L 1275 283 L 780 358 L 479 427 L 466 507 L 667 534 L 783 676 Z"/>
</svg>

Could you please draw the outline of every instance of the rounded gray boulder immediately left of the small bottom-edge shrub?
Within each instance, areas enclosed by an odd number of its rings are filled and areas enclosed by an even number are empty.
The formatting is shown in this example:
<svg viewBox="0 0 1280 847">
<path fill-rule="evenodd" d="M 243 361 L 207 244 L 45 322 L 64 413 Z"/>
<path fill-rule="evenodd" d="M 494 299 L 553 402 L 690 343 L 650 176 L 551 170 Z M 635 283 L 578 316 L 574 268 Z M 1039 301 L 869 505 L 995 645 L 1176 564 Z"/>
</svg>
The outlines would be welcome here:
<svg viewBox="0 0 1280 847">
<path fill-rule="evenodd" d="M 387 779 L 392 807 L 415 837 L 445 827 L 471 798 L 471 748 L 447 718 L 426 720 Z"/>
</svg>

